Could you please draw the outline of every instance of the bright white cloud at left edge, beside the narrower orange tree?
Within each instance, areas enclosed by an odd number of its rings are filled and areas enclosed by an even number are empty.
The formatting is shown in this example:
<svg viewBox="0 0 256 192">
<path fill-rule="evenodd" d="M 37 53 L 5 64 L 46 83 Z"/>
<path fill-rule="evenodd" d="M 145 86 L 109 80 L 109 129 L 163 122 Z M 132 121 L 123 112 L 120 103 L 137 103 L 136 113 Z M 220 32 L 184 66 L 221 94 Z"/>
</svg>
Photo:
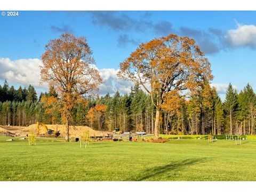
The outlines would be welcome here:
<svg viewBox="0 0 256 192">
<path fill-rule="evenodd" d="M 40 85 L 40 68 L 42 61 L 39 59 L 19 59 L 10 60 L 9 58 L 0 58 L 0 78 L 7 82 L 21 85 L 33 85 L 35 87 L 44 87 Z"/>
</svg>

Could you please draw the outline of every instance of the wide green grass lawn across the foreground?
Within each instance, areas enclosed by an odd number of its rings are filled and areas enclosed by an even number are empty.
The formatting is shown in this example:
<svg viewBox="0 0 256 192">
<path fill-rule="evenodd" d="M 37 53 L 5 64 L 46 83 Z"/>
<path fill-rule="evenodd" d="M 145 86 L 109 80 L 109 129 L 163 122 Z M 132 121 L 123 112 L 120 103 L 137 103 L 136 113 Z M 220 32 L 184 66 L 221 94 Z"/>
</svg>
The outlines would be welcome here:
<svg viewBox="0 0 256 192">
<path fill-rule="evenodd" d="M 256 181 L 256 142 L 173 139 L 166 143 L 0 137 L 0 181 Z"/>
</svg>

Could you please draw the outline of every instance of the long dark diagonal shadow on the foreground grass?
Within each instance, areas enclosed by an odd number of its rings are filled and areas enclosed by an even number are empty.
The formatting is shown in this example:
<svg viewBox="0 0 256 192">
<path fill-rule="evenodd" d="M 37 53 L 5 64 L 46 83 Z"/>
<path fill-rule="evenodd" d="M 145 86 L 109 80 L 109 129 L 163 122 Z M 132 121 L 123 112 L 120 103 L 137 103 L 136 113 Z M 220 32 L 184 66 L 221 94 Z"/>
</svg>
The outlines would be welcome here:
<svg viewBox="0 0 256 192">
<path fill-rule="evenodd" d="M 157 166 L 151 169 L 147 169 L 143 171 L 146 175 L 139 175 L 135 179 L 131 179 L 132 181 L 144 181 L 151 177 L 155 177 L 156 175 L 163 175 L 169 171 L 180 170 L 187 166 L 204 163 L 207 161 L 208 158 L 195 158 L 195 159 L 185 159 L 181 162 L 174 162 L 163 166 Z"/>
</svg>

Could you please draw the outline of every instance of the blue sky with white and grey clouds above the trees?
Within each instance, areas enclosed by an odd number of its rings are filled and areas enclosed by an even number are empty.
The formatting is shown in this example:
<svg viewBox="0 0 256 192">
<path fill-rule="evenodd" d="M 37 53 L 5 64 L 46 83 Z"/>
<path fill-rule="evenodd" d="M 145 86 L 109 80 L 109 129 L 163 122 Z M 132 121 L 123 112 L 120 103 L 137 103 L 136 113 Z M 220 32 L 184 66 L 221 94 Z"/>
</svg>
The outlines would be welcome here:
<svg viewBox="0 0 256 192">
<path fill-rule="evenodd" d="M 85 36 L 105 85 L 100 93 L 127 92 L 115 75 L 119 63 L 142 43 L 170 33 L 194 38 L 212 64 L 220 94 L 231 82 L 238 91 L 256 90 L 255 11 L 19 11 L 0 17 L 0 83 L 33 84 L 37 91 L 44 46 L 69 32 Z M 222 95 L 222 98 L 224 96 Z"/>
</svg>

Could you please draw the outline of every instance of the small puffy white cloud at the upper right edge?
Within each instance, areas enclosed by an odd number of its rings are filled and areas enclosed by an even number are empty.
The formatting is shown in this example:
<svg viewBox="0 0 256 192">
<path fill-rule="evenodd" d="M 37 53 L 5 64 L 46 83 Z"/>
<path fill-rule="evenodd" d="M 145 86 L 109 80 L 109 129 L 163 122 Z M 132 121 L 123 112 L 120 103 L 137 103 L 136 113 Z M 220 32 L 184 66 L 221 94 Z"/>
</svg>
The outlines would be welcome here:
<svg viewBox="0 0 256 192">
<path fill-rule="evenodd" d="M 237 29 L 230 29 L 225 35 L 226 44 L 230 47 L 249 46 L 256 48 L 256 26 L 237 23 Z"/>
</svg>

